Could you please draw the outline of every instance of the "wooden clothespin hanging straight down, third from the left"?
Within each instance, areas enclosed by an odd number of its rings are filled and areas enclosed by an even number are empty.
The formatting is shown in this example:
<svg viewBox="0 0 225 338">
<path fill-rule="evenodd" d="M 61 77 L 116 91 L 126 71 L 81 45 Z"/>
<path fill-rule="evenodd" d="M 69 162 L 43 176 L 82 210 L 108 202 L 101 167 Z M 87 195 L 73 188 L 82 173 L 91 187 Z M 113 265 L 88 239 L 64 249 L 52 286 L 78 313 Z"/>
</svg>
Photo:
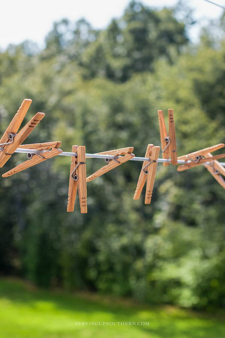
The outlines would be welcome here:
<svg viewBox="0 0 225 338">
<path fill-rule="evenodd" d="M 71 157 L 71 167 L 69 175 L 69 192 L 67 212 L 74 211 L 75 199 L 77 194 L 77 187 L 79 191 L 81 214 L 87 213 L 87 183 L 86 183 L 86 150 L 85 146 L 72 147 L 72 152 L 77 153 Z"/>
</svg>

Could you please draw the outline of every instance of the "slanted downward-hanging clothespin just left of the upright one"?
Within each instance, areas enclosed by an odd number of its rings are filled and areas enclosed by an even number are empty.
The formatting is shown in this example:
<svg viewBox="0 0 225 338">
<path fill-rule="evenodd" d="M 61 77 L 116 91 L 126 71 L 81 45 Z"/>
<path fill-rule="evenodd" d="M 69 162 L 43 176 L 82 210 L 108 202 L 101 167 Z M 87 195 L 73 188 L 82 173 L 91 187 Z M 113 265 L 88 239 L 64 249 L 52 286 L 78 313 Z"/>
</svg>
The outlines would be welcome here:
<svg viewBox="0 0 225 338">
<path fill-rule="evenodd" d="M 152 197 L 152 192 L 153 192 L 153 187 L 154 187 L 154 180 L 156 177 L 156 169 L 157 169 L 157 164 L 158 164 L 157 160 L 159 158 L 159 152 L 160 152 L 160 147 L 155 147 L 153 144 L 148 144 L 145 157 L 149 158 L 150 161 L 143 162 L 141 172 L 139 175 L 139 179 L 138 179 L 137 188 L 134 194 L 134 199 L 140 198 L 145 181 L 147 179 L 145 201 L 144 201 L 145 204 L 151 203 L 151 197 Z"/>
</svg>

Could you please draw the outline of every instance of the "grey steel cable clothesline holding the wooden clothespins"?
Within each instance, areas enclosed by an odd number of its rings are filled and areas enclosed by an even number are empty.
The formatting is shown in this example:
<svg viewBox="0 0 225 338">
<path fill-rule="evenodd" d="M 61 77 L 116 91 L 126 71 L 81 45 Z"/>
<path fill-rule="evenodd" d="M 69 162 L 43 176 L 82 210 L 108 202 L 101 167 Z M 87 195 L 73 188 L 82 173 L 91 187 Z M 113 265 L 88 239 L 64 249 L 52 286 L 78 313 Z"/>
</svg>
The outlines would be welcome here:
<svg viewBox="0 0 225 338">
<path fill-rule="evenodd" d="M 0 151 L 2 151 L 4 148 L 0 147 Z M 41 154 L 44 153 L 45 151 L 48 150 L 37 150 L 37 149 L 23 149 L 23 148 L 17 148 L 15 152 L 18 153 L 32 153 L 32 154 Z M 58 154 L 58 156 L 76 156 L 77 157 L 77 153 L 76 152 L 66 152 L 63 151 L 60 154 Z M 118 159 L 121 156 L 113 156 L 113 155 L 107 155 L 107 154 L 86 154 L 86 158 L 93 158 L 93 159 L 109 159 L 109 160 L 115 160 Z M 149 158 L 146 157 L 133 157 L 132 159 L 130 159 L 129 161 L 150 161 Z M 159 163 L 164 163 L 164 162 L 168 162 L 170 163 L 171 160 L 170 159 L 158 159 L 157 162 Z M 184 163 L 191 163 L 191 160 L 177 160 L 178 164 L 184 164 Z M 205 164 L 210 164 L 210 162 L 206 162 Z M 225 162 L 220 162 L 220 164 L 225 167 Z"/>
</svg>

